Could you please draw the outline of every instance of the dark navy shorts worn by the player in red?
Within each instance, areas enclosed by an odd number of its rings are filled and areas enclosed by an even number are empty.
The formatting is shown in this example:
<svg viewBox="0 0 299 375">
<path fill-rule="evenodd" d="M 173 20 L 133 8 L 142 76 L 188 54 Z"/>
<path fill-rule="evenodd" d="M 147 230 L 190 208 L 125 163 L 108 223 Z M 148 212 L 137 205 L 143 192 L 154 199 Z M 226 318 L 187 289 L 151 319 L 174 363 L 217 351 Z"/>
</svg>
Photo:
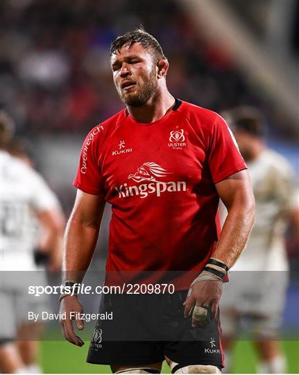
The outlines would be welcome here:
<svg viewBox="0 0 299 375">
<path fill-rule="evenodd" d="M 204 326 L 193 328 L 184 318 L 182 303 L 187 290 L 173 294 L 105 294 L 87 356 L 88 363 L 148 365 L 167 356 L 180 365 L 213 365 L 222 368 L 219 313 Z"/>
</svg>

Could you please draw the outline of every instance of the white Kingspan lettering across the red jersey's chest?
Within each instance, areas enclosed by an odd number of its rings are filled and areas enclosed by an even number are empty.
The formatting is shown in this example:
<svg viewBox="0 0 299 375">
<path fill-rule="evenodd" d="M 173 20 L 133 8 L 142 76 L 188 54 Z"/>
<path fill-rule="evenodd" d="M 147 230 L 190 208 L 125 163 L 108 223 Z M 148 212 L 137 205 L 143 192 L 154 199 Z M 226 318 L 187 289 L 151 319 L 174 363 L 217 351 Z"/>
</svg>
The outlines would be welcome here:
<svg viewBox="0 0 299 375">
<path fill-rule="evenodd" d="M 185 192 L 187 190 L 185 181 L 169 181 L 169 182 L 152 182 L 142 183 L 140 185 L 128 186 L 127 183 L 114 187 L 119 193 L 119 198 L 133 197 L 134 195 L 140 195 L 140 198 L 146 198 L 148 194 L 156 194 L 157 197 L 161 197 L 164 192 Z"/>
</svg>

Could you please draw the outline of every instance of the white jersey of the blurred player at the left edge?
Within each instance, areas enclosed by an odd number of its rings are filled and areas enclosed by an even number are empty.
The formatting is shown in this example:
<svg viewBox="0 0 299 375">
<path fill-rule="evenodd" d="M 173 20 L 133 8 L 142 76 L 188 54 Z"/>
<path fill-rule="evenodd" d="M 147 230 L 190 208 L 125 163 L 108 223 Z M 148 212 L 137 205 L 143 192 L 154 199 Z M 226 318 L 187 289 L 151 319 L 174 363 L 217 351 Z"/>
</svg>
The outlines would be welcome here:
<svg viewBox="0 0 299 375">
<path fill-rule="evenodd" d="M 0 155 L 1 271 L 36 271 L 34 215 L 60 205 L 40 174 L 6 151 Z"/>
</svg>

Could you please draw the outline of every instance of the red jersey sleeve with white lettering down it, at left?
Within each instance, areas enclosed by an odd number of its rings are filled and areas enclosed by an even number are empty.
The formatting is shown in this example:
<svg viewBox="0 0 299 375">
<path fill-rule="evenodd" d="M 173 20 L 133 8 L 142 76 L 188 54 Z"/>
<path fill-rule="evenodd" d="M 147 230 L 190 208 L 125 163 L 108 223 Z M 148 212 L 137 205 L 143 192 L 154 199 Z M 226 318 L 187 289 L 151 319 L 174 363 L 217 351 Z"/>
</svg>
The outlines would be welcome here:
<svg viewBox="0 0 299 375">
<path fill-rule="evenodd" d="M 99 158 L 99 140 L 103 126 L 98 125 L 89 132 L 80 154 L 80 162 L 74 186 L 89 194 L 100 195 L 103 192 L 103 178 Z"/>
</svg>

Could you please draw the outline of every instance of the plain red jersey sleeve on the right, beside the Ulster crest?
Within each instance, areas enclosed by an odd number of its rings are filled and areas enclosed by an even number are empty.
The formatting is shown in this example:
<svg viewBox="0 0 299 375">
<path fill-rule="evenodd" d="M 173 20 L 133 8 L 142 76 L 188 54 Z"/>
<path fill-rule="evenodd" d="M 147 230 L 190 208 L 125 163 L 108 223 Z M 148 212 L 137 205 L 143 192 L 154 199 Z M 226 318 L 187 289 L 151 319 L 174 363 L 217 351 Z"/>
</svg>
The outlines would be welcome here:
<svg viewBox="0 0 299 375">
<path fill-rule="evenodd" d="M 219 115 L 212 128 L 209 165 L 214 183 L 247 168 L 232 131 Z"/>
</svg>

